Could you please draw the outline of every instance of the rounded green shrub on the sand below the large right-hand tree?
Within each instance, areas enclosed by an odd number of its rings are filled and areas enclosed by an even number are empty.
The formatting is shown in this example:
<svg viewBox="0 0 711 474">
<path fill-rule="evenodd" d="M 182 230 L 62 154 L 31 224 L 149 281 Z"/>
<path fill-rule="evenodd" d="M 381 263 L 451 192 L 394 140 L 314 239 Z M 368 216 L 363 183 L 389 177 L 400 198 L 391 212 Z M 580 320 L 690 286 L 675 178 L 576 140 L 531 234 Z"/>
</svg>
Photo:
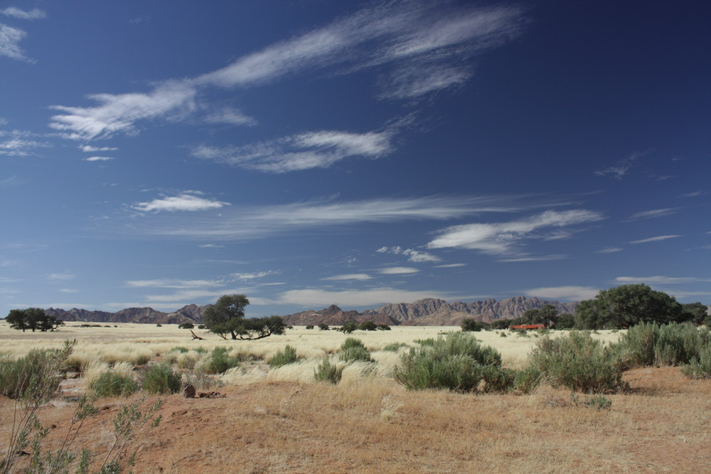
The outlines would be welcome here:
<svg viewBox="0 0 711 474">
<path fill-rule="evenodd" d="M 558 339 L 542 338 L 529 360 L 553 387 L 585 393 L 615 393 L 626 388 L 622 382 L 624 363 L 616 351 L 604 347 L 588 331 L 572 331 Z"/>
</svg>

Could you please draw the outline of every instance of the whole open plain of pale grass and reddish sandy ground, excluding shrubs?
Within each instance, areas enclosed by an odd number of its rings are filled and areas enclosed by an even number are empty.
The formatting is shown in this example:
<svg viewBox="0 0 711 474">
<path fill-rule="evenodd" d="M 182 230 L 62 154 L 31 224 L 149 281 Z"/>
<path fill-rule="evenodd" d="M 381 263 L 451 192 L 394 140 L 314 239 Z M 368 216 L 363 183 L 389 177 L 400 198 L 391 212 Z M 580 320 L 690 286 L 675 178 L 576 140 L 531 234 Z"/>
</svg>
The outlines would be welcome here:
<svg viewBox="0 0 711 474">
<path fill-rule="evenodd" d="M 190 370 L 185 367 L 191 366 L 186 361 L 200 357 L 201 347 L 223 346 L 255 357 L 212 377 L 210 390 L 224 398 L 162 397 L 161 424 L 134 440 L 137 473 L 711 471 L 711 381 L 688 379 L 677 367 L 626 372 L 630 391 L 608 395 L 611 408 L 599 410 L 581 404 L 582 397 L 547 386 L 527 395 L 474 395 L 411 392 L 395 382 L 392 370 L 399 355 L 385 346 L 412 344 L 458 328 L 357 331 L 350 337 L 362 340 L 377 363 L 350 364 L 341 382 L 332 385 L 314 382 L 313 374 L 319 361 L 333 357 L 349 337 L 333 330 L 294 328 L 264 340 L 232 341 L 203 331 L 196 333 L 205 340 L 191 340 L 187 330 L 174 325 L 78 324 L 55 333 L 21 333 L 2 323 L 0 352 L 16 357 L 30 348 L 77 339 L 77 365 L 171 362 L 176 370 L 182 366 L 186 376 Z M 497 348 L 505 366 L 522 365 L 538 336 L 501 333 L 476 337 Z M 617 336 L 610 331 L 596 335 L 607 341 Z M 304 358 L 272 370 L 258 361 L 287 344 Z M 193 362 L 192 367 L 199 365 Z M 48 448 L 57 446 L 68 429 L 75 409 L 70 396 L 82 387 L 81 379 L 72 382 L 63 384 L 63 397 L 40 411 L 43 424 L 52 427 Z M 100 455 L 112 442 L 114 414 L 140 396 L 98 400 L 100 413 L 87 421 L 76 446 Z M 12 400 L 0 399 L 2 445 L 13 410 Z"/>
</svg>

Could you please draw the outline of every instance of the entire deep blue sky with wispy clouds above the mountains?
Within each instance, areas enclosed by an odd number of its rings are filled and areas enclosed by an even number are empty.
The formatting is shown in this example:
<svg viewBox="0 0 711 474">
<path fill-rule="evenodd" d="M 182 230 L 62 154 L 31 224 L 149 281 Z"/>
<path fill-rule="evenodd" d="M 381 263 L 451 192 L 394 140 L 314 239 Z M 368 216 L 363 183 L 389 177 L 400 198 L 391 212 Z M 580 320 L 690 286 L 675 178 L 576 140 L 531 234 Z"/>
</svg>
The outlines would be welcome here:
<svg viewBox="0 0 711 474">
<path fill-rule="evenodd" d="M 0 301 L 711 303 L 707 2 L 3 1 Z"/>
</svg>

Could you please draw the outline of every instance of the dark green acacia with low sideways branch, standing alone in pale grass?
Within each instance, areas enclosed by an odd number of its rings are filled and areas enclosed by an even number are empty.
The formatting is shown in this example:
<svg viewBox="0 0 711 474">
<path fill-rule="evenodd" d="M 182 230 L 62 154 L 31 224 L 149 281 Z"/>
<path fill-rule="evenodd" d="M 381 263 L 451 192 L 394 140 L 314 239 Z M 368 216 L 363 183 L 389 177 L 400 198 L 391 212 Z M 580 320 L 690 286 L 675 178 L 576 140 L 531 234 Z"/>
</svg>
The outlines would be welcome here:
<svg viewBox="0 0 711 474">
<path fill-rule="evenodd" d="M 203 312 L 203 323 L 223 339 L 252 340 L 284 334 L 287 325 L 279 316 L 245 318 L 245 306 L 250 300 L 245 295 L 223 295 L 217 303 Z"/>
</svg>

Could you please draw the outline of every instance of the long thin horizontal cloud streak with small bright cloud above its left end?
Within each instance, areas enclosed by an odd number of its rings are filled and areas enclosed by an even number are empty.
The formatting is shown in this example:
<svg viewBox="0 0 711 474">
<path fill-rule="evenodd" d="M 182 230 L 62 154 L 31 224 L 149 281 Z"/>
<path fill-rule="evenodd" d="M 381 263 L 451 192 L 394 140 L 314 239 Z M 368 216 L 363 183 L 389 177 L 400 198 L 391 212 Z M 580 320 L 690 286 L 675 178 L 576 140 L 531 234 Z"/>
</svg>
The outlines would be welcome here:
<svg viewBox="0 0 711 474">
<path fill-rule="evenodd" d="M 335 198 L 284 205 L 234 205 L 217 212 L 173 217 L 160 210 L 185 210 L 180 196 L 161 198 L 134 205 L 151 212 L 144 222 L 132 220 L 132 235 L 182 236 L 196 239 L 254 239 L 297 230 L 346 226 L 363 223 L 392 224 L 407 220 L 448 220 L 483 212 L 516 212 L 538 208 L 531 196 L 425 196 L 422 198 L 381 198 L 338 202 Z M 213 201 L 188 195 L 188 205 L 204 208 Z M 201 204 L 203 206 L 201 206 Z M 213 210 L 215 210 L 213 209 Z M 110 232 L 122 232 L 112 228 Z"/>
</svg>

